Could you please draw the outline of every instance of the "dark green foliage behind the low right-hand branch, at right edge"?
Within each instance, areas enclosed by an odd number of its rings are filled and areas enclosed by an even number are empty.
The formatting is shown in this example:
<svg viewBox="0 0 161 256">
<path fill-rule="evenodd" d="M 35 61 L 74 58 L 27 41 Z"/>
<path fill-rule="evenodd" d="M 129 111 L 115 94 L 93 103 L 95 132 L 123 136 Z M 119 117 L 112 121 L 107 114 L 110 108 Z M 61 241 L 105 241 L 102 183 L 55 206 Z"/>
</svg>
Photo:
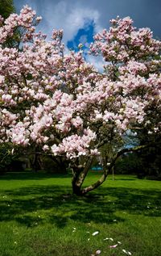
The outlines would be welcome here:
<svg viewBox="0 0 161 256">
<path fill-rule="evenodd" d="M 147 148 L 119 157 L 114 166 L 117 174 L 137 174 L 138 178 L 161 178 L 161 137 L 148 128 L 138 129 L 137 133 L 129 131 L 124 136 L 129 147 L 149 145 Z"/>
</svg>

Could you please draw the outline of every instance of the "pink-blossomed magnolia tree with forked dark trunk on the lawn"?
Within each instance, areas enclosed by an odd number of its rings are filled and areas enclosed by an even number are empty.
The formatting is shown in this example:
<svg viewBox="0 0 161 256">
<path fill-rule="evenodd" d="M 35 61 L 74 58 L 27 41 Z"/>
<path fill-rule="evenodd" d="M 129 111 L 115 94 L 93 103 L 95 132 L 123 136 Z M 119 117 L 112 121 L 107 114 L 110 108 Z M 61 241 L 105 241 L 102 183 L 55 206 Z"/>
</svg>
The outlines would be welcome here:
<svg viewBox="0 0 161 256">
<path fill-rule="evenodd" d="M 40 19 L 24 6 L 0 28 L 0 142 L 68 163 L 73 193 L 85 195 L 105 181 L 122 153 L 149 146 L 149 141 L 137 148 L 116 146 L 128 129 L 160 132 L 161 43 L 128 17 L 113 19 L 90 48 L 107 61 L 99 73 L 83 52 L 66 53 L 63 31 L 53 31 L 51 41 L 36 33 Z M 93 157 L 100 157 L 103 174 L 82 188 Z"/>
</svg>

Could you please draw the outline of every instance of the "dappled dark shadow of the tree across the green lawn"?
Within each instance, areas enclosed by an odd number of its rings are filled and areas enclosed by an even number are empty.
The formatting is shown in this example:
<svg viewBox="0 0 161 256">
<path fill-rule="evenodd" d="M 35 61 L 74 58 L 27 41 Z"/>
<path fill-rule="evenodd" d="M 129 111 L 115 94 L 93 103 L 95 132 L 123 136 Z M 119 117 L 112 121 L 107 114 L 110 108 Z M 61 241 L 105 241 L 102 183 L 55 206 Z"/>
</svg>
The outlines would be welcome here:
<svg viewBox="0 0 161 256">
<path fill-rule="evenodd" d="M 69 220 L 100 224 L 125 221 L 117 216 L 118 211 L 161 216 L 159 190 L 100 187 L 85 197 L 70 195 L 71 187 L 67 186 L 31 186 L 2 192 L 6 197 L 0 201 L 0 221 L 15 220 L 27 227 L 50 223 L 63 228 Z"/>
</svg>

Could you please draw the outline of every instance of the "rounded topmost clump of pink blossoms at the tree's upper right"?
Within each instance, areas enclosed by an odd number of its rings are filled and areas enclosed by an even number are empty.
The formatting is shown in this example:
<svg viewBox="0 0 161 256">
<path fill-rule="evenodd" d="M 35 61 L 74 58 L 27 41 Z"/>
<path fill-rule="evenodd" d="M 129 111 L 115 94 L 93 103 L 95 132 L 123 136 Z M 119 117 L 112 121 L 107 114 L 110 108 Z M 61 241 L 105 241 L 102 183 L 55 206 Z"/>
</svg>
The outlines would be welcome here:
<svg viewBox="0 0 161 256">
<path fill-rule="evenodd" d="M 112 19 L 109 31 L 98 33 L 91 45 L 91 52 L 101 52 L 105 61 L 138 61 L 145 57 L 156 56 L 161 42 L 152 38 L 149 28 L 136 29 L 130 17 Z"/>
</svg>

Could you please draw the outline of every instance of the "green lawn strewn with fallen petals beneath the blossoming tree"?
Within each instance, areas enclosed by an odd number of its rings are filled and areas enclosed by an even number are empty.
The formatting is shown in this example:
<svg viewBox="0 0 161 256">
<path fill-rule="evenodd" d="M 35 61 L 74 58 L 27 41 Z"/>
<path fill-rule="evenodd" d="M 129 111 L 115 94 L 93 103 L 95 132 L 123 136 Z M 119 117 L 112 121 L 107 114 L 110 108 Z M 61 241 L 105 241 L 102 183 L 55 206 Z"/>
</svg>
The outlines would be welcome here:
<svg viewBox="0 0 161 256">
<path fill-rule="evenodd" d="M 89 174 L 85 183 L 99 175 Z M 0 176 L 0 255 L 161 255 L 159 181 L 109 176 L 85 198 L 71 192 L 69 176 Z"/>
</svg>

